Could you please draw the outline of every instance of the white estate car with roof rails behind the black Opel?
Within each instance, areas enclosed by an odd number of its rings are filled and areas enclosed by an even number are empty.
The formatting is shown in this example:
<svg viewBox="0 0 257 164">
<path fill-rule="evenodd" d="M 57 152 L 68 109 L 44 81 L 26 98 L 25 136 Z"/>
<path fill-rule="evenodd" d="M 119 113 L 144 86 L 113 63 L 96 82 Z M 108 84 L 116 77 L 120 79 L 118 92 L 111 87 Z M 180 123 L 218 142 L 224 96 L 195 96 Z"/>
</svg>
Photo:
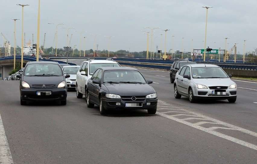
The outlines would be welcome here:
<svg viewBox="0 0 257 164">
<path fill-rule="evenodd" d="M 86 95 L 87 81 L 100 67 L 121 67 L 118 62 L 111 58 L 105 60 L 86 59 L 81 63 L 76 76 L 76 95 L 81 99 Z"/>
</svg>

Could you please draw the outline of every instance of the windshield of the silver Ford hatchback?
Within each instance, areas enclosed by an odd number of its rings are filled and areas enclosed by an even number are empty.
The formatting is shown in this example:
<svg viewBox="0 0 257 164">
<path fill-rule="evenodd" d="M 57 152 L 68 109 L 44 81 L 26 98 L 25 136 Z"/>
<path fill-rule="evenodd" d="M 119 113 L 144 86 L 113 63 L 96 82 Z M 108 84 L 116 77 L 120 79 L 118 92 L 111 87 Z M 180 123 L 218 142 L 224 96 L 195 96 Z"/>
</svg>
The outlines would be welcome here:
<svg viewBox="0 0 257 164">
<path fill-rule="evenodd" d="M 193 78 L 228 78 L 220 67 L 193 67 Z"/>
</svg>

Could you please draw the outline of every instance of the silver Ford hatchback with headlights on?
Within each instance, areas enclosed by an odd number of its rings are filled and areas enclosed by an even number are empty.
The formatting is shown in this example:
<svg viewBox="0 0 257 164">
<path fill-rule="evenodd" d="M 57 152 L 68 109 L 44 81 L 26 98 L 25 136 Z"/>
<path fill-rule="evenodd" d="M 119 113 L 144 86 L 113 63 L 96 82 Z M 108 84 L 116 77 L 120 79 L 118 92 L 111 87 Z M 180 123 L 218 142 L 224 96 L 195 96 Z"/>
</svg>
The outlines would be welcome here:
<svg viewBox="0 0 257 164">
<path fill-rule="evenodd" d="M 176 73 L 174 96 L 189 98 L 190 102 L 199 99 L 227 99 L 236 102 L 236 83 L 226 72 L 214 64 L 185 65 Z"/>
</svg>

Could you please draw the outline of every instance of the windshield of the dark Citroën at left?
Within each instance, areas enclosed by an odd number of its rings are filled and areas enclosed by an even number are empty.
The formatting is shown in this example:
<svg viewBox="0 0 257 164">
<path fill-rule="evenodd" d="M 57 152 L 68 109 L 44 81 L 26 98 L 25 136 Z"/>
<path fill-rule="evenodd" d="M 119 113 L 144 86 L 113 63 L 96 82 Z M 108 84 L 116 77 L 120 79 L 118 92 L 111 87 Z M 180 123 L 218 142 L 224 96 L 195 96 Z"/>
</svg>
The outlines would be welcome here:
<svg viewBox="0 0 257 164">
<path fill-rule="evenodd" d="M 24 76 L 53 75 L 62 76 L 62 69 L 58 64 L 36 63 L 29 64 L 24 69 Z"/>
</svg>

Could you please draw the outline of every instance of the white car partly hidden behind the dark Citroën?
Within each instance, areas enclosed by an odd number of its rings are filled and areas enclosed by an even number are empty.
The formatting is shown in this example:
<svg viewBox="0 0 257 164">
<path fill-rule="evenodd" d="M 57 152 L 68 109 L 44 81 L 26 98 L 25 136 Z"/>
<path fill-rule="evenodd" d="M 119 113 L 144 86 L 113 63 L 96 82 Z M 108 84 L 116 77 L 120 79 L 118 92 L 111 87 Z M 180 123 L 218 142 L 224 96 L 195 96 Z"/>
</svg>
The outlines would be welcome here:
<svg viewBox="0 0 257 164">
<path fill-rule="evenodd" d="M 62 66 L 62 71 L 64 74 L 69 74 L 70 77 L 66 78 L 67 88 L 76 89 L 76 76 L 79 70 L 79 65 L 64 65 Z"/>
</svg>

